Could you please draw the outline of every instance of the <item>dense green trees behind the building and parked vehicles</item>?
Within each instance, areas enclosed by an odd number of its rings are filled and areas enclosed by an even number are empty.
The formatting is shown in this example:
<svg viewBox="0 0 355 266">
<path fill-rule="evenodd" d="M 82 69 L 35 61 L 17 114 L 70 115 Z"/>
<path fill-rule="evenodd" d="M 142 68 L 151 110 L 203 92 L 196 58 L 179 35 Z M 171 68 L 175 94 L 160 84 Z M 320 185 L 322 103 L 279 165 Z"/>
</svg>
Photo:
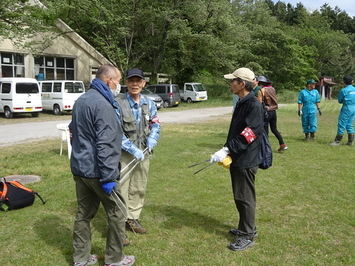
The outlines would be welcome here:
<svg viewBox="0 0 355 266">
<path fill-rule="evenodd" d="M 27 0 L 2 0 L 2 35 L 11 28 L 6 20 L 24 19 L 6 18 L 14 2 Z M 245 66 L 267 75 L 280 91 L 298 91 L 310 78 L 332 76 L 340 83 L 355 73 L 355 18 L 328 4 L 309 12 L 301 3 L 272 0 L 42 2 L 47 9 L 32 10 L 37 24 L 26 16 L 33 29 L 47 30 L 61 18 L 119 69 L 139 67 L 153 77 L 167 73 L 178 84 L 226 88 L 223 74 Z M 17 30 L 12 27 L 8 35 L 13 38 Z"/>
</svg>

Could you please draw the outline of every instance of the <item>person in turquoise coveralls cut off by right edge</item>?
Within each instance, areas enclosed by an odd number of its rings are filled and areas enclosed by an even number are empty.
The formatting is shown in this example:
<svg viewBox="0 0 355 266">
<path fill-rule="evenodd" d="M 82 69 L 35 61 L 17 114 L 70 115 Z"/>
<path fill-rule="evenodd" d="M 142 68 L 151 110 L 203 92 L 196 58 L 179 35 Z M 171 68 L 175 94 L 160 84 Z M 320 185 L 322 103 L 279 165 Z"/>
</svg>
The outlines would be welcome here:
<svg viewBox="0 0 355 266">
<path fill-rule="evenodd" d="M 343 82 L 346 87 L 340 90 L 338 102 L 343 104 L 338 118 L 338 132 L 330 146 L 338 146 L 343 138 L 344 131 L 348 133 L 348 142 L 346 145 L 354 145 L 354 118 L 355 118 L 355 88 L 352 85 L 353 78 L 345 76 Z"/>
</svg>

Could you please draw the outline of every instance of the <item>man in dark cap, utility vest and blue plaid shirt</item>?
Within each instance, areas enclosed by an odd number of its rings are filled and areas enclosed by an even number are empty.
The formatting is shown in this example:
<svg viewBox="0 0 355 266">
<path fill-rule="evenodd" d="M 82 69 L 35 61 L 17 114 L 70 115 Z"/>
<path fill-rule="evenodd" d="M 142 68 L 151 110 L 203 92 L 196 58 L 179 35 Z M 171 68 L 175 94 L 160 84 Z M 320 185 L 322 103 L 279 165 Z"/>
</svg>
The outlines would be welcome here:
<svg viewBox="0 0 355 266">
<path fill-rule="evenodd" d="M 127 93 L 115 97 L 119 104 L 116 112 L 124 133 L 122 169 L 135 162 L 127 170 L 132 169 L 121 184 L 121 194 L 128 208 L 126 229 L 144 234 L 147 230 L 138 219 L 144 205 L 152 151 L 160 136 L 160 121 L 154 102 L 141 94 L 146 84 L 143 71 L 132 68 L 127 71 L 125 79 Z M 138 164 L 133 168 L 136 162 Z"/>
</svg>

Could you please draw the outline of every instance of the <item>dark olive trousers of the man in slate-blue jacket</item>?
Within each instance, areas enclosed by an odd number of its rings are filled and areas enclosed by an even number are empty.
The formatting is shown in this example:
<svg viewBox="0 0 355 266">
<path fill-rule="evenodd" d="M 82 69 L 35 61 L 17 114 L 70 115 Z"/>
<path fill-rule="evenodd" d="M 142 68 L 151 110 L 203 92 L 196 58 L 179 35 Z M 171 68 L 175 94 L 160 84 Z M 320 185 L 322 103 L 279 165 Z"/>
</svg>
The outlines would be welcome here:
<svg viewBox="0 0 355 266">
<path fill-rule="evenodd" d="M 125 218 L 122 212 L 117 207 L 113 196 L 109 196 L 102 190 L 99 179 L 74 176 L 74 180 L 78 201 L 73 231 L 74 262 L 86 261 L 90 258 L 90 222 L 95 217 L 100 202 L 106 211 L 108 221 L 105 263 L 120 262 L 124 258 L 123 241 L 125 238 Z M 116 192 L 118 192 L 117 187 Z M 122 197 L 121 200 L 123 201 Z M 124 206 L 120 207 L 122 210 L 125 208 Z"/>
</svg>

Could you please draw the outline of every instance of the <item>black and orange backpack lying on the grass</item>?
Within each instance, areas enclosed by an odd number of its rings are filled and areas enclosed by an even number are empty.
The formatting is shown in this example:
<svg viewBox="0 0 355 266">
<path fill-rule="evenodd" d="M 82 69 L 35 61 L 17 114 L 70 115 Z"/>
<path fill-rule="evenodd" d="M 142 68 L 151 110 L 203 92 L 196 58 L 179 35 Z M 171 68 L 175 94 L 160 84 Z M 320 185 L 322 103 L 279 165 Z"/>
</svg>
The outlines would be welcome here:
<svg viewBox="0 0 355 266">
<path fill-rule="evenodd" d="M 43 204 L 46 202 L 34 190 L 17 181 L 0 181 L 0 210 L 10 211 L 31 206 L 37 195 Z"/>
</svg>

